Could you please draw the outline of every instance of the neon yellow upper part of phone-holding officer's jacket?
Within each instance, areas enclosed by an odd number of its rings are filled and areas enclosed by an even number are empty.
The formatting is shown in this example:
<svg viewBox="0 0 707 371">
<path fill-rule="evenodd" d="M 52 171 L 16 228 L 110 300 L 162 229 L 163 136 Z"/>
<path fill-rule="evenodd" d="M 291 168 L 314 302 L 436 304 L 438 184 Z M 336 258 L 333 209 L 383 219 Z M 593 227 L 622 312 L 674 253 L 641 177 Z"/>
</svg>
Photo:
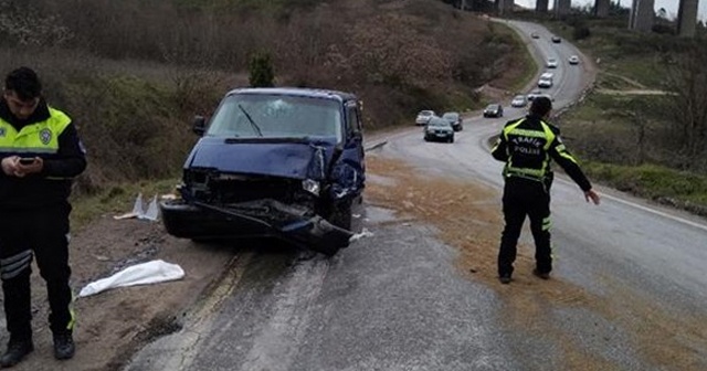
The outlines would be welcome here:
<svg viewBox="0 0 707 371">
<path fill-rule="evenodd" d="M 63 112 L 49 107 L 50 117 L 23 127 L 19 132 L 0 118 L 0 153 L 53 155 L 59 151 L 59 136 L 71 124 Z"/>
</svg>

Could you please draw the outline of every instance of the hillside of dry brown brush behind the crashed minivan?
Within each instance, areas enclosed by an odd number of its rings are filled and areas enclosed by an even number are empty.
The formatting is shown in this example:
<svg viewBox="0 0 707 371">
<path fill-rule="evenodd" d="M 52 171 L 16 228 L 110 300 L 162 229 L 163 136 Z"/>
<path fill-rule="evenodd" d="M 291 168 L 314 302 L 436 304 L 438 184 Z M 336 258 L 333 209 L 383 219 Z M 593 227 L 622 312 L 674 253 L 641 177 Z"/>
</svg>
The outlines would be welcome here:
<svg viewBox="0 0 707 371">
<path fill-rule="evenodd" d="M 50 102 L 80 125 L 89 152 L 82 189 L 176 176 L 253 53 L 277 85 L 357 93 L 369 128 L 419 109 L 479 105 L 500 76 L 507 32 L 441 1 L 0 0 L 0 67 L 35 67 Z"/>
</svg>

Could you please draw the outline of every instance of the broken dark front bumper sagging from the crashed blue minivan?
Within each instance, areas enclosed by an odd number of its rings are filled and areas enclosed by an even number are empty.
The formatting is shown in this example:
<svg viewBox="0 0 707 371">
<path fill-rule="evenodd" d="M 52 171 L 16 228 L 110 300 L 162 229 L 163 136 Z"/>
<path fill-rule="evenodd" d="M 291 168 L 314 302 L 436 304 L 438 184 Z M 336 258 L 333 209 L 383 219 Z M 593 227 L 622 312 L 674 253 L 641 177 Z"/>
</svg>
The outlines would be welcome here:
<svg viewBox="0 0 707 371">
<path fill-rule="evenodd" d="M 277 237 L 334 255 L 349 245 L 352 235 L 308 209 L 275 200 L 228 206 L 169 200 L 161 202 L 160 209 L 167 232 L 181 239 Z"/>
</svg>

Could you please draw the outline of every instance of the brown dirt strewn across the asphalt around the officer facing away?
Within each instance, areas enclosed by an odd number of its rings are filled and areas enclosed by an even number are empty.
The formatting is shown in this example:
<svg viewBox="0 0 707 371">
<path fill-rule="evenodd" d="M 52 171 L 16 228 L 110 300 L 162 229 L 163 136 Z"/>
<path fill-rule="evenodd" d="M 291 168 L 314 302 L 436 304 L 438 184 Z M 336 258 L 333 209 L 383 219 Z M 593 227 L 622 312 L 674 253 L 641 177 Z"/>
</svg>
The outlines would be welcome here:
<svg viewBox="0 0 707 371">
<path fill-rule="evenodd" d="M 520 243 L 514 282 L 502 285 L 496 256 L 504 222 L 497 190 L 473 181 L 426 177 L 404 162 L 382 156 L 368 156 L 367 171 L 376 174 L 374 179 L 386 180 L 368 182 L 368 202 L 395 210 L 400 220 L 434 225 L 440 231 L 437 237 L 460 252 L 457 263 L 462 274 L 484 283 L 502 298 L 505 305 L 499 317 L 504 318 L 504 327 L 528 338 L 551 333 L 562 349 L 564 370 L 623 369 L 589 349 L 587 337 L 600 338 L 608 348 L 626 344 L 615 329 L 604 331 L 598 324 L 593 333 L 568 333 L 552 317 L 557 309 L 590 310 L 622 328 L 629 335 L 630 348 L 662 370 L 705 370 L 703 349 L 696 344 L 707 341 L 704 326 L 707 318 L 666 310 L 612 277 L 598 277 L 606 287 L 602 296 L 561 277 L 541 280 L 531 274 L 535 246 Z M 525 235 L 530 234 L 528 224 Z M 559 250 L 561 255 L 561 246 Z M 557 253 L 556 248 L 556 258 Z M 536 354 L 517 356 L 523 359 Z"/>
</svg>

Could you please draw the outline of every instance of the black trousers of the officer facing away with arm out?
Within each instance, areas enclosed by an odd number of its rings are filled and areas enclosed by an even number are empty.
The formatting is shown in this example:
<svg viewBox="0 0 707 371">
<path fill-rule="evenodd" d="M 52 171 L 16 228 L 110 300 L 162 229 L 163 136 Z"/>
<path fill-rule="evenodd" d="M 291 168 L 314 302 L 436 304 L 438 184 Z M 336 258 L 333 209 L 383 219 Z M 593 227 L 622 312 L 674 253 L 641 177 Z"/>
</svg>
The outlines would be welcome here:
<svg viewBox="0 0 707 371">
<path fill-rule="evenodd" d="M 535 239 L 536 269 L 552 271 L 550 247 L 550 192 L 539 181 L 510 177 L 504 187 L 504 219 L 506 226 L 498 251 L 498 275 L 511 275 L 516 261 L 518 237 L 526 215 L 530 219 L 530 231 Z"/>
</svg>

